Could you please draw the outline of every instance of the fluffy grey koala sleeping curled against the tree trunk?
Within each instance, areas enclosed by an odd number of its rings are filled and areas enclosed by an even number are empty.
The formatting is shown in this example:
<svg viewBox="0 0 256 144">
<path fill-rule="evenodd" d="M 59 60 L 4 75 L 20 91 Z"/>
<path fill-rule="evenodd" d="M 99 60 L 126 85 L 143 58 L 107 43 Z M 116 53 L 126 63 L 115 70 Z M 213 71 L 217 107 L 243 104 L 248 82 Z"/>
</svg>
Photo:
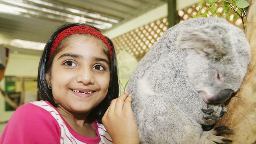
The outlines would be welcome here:
<svg viewBox="0 0 256 144">
<path fill-rule="evenodd" d="M 215 144 L 226 126 L 203 131 L 226 111 L 250 62 L 242 30 L 223 18 L 191 18 L 169 28 L 139 61 L 127 91 L 142 144 Z"/>
</svg>

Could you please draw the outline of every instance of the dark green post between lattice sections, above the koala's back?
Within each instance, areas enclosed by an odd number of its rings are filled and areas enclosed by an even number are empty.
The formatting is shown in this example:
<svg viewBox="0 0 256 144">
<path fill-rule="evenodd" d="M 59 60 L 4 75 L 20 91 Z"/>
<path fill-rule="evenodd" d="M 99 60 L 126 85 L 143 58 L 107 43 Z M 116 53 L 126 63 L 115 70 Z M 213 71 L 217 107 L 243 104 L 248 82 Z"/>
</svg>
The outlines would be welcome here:
<svg viewBox="0 0 256 144">
<path fill-rule="evenodd" d="M 168 27 L 171 28 L 179 22 L 178 13 L 176 10 L 176 0 L 168 0 Z"/>
</svg>

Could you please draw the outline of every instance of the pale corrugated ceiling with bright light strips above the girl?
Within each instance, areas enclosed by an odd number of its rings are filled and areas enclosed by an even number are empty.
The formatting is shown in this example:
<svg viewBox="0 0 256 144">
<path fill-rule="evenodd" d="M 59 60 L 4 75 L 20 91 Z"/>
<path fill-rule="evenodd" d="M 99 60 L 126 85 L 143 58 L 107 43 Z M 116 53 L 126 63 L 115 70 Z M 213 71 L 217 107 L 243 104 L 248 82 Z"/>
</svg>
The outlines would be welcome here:
<svg viewBox="0 0 256 144">
<path fill-rule="evenodd" d="M 67 22 L 86 22 L 106 32 L 166 1 L 0 0 L 0 44 L 11 51 L 41 54 L 39 50 L 21 50 L 19 41 L 45 43 L 57 26 Z"/>
</svg>

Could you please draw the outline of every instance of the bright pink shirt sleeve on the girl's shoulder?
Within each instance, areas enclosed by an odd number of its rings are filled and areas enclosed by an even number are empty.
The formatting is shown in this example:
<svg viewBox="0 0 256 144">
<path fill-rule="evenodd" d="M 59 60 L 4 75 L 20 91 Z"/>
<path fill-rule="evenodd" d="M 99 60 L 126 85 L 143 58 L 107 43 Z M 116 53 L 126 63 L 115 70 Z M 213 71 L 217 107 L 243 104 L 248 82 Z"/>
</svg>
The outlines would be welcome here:
<svg viewBox="0 0 256 144">
<path fill-rule="evenodd" d="M 0 138 L 0 144 L 46 143 L 60 143 L 60 127 L 48 111 L 32 103 L 13 113 Z"/>
</svg>

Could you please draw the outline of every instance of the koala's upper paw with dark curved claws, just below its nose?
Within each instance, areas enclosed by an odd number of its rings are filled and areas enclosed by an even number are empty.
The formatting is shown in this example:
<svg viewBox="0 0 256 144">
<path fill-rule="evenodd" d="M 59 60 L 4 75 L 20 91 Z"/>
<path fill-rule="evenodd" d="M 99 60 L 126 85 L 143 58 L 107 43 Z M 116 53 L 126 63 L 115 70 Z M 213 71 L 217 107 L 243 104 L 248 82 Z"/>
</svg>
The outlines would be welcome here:
<svg viewBox="0 0 256 144">
<path fill-rule="evenodd" d="M 209 105 L 207 104 L 207 109 L 202 108 L 204 112 L 203 118 L 206 122 L 206 125 L 215 124 L 218 122 L 223 114 L 226 112 L 226 107 L 223 104 L 221 105 Z"/>
</svg>

